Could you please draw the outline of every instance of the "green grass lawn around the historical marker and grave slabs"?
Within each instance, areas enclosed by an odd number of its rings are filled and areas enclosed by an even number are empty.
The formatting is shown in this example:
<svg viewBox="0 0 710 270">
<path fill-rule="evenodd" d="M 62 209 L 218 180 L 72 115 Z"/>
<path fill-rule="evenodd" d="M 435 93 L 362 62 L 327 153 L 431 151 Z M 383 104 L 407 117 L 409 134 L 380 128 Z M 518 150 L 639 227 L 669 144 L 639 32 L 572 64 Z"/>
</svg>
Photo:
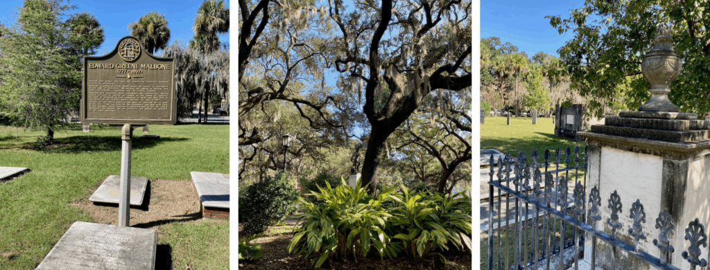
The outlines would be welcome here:
<svg viewBox="0 0 710 270">
<path fill-rule="evenodd" d="M 140 129 L 133 132 L 134 176 L 179 180 L 191 179 L 190 171 L 229 174 L 228 125 L 151 125 L 150 134 L 160 140 L 136 140 L 142 134 Z M 76 126 L 55 133 L 55 145 L 34 147 L 43 135 L 0 126 L 0 166 L 31 169 L 0 183 L 0 269 L 34 269 L 72 223 L 92 222 L 88 213 L 67 203 L 89 198 L 89 189 L 120 174 L 120 127 L 94 125 L 91 133 L 83 133 Z M 172 249 L 174 266 L 184 261 L 200 266 L 192 269 L 229 265 L 229 222 L 163 228 L 166 233 L 158 244 Z M 212 237 L 205 239 L 206 234 Z"/>
</svg>

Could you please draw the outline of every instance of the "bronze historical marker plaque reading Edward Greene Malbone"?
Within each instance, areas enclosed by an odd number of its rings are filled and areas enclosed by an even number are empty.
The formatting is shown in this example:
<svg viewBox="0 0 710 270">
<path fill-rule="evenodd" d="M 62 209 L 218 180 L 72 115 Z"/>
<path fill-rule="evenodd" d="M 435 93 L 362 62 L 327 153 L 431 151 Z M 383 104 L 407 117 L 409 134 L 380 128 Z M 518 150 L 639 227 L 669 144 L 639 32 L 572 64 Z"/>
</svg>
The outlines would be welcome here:
<svg viewBox="0 0 710 270">
<path fill-rule="evenodd" d="M 82 123 L 174 124 L 174 67 L 173 58 L 148 54 L 132 36 L 107 55 L 84 57 Z"/>
</svg>

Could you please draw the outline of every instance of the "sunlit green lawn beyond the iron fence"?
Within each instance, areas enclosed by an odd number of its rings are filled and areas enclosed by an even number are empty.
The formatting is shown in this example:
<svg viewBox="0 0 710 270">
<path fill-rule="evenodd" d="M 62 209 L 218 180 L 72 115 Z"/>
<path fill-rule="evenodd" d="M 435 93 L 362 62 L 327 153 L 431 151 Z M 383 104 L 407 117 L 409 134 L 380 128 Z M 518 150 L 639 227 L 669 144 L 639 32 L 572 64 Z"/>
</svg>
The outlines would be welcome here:
<svg viewBox="0 0 710 270">
<path fill-rule="evenodd" d="M 555 149 L 559 147 L 560 161 L 564 161 L 564 148 L 568 147 L 572 151 L 574 158 L 574 147 L 579 146 L 579 158 L 584 157 L 584 145 L 586 142 L 575 142 L 564 137 L 555 136 L 555 125 L 552 118 L 537 118 L 537 125 L 532 125 L 532 118 L 510 118 L 510 125 L 506 124 L 505 117 L 486 117 L 486 123 L 481 125 L 481 149 L 496 149 L 513 157 L 518 157 L 522 150 L 530 162 L 532 150 L 539 152 L 538 162 L 545 159 L 542 155 L 545 150 L 550 150 L 550 163 L 555 162 Z M 581 163 L 581 162 L 580 162 Z M 555 166 L 552 164 L 551 166 Z"/>
</svg>

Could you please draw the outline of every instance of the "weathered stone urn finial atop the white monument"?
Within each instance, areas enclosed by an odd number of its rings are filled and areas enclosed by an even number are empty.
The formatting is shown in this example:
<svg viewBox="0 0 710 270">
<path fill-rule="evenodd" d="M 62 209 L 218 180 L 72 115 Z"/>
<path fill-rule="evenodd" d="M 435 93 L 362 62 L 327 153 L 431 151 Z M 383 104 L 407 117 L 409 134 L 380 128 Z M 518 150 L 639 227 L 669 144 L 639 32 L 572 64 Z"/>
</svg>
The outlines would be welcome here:
<svg viewBox="0 0 710 270">
<path fill-rule="evenodd" d="M 651 88 L 651 99 L 643 104 L 638 111 L 667 111 L 678 112 L 678 106 L 673 105 L 668 99 L 671 81 L 678 77 L 682 69 L 682 62 L 678 53 L 673 49 L 670 26 L 661 23 L 653 39 L 653 48 L 646 53 L 641 62 L 641 72 L 648 79 Z"/>
</svg>

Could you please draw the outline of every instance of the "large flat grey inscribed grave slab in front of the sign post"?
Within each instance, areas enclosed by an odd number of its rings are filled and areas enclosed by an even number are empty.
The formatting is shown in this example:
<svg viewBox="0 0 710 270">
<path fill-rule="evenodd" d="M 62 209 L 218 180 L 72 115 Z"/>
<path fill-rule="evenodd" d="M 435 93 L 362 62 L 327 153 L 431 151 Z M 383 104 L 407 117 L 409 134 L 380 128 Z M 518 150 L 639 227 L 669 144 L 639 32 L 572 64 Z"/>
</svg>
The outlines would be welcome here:
<svg viewBox="0 0 710 270">
<path fill-rule="evenodd" d="M 158 232 L 77 221 L 37 269 L 155 269 Z"/>
</svg>

